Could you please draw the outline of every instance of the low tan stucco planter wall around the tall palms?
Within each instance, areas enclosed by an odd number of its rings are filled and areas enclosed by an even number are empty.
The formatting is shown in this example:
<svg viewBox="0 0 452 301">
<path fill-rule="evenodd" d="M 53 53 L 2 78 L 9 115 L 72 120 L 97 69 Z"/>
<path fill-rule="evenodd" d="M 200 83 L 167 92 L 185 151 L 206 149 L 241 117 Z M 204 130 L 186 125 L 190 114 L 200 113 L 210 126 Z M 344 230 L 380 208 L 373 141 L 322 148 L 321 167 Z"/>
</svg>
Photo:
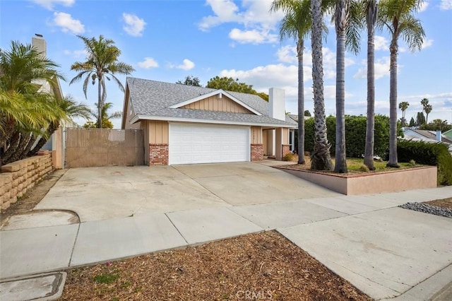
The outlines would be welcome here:
<svg viewBox="0 0 452 301">
<path fill-rule="evenodd" d="M 436 187 L 437 173 L 436 166 L 347 176 L 308 170 L 282 169 L 292 175 L 347 195 L 432 188 Z"/>
</svg>

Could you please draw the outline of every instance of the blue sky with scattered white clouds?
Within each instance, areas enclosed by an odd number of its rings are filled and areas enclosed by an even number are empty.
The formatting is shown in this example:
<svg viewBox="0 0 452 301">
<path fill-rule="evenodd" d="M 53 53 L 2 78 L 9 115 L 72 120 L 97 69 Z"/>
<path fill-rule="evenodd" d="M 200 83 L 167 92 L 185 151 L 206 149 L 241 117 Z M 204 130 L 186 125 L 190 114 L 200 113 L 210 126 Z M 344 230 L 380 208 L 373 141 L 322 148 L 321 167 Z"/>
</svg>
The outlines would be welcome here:
<svg viewBox="0 0 452 301">
<path fill-rule="evenodd" d="M 30 43 L 35 33 L 47 40 L 47 56 L 68 79 L 64 94 L 95 107 L 95 86 L 69 85 L 74 61 L 83 61 L 83 43 L 76 35 L 104 35 L 121 49 L 121 61 L 132 76 L 175 83 L 196 76 L 206 85 L 215 76 L 231 76 L 259 92 L 284 88 L 286 110 L 297 112 L 295 41 L 280 42 L 281 13 L 269 13 L 268 0 L 88 1 L 1 0 L 0 47 L 11 40 Z M 452 120 L 452 0 L 424 1 L 417 14 L 427 35 L 421 52 L 410 52 L 402 41 L 398 56 L 398 102 L 408 101 L 409 120 L 422 110 L 420 100 L 433 106 L 429 120 Z M 366 34 L 358 55 L 346 54 L 345 113 L 366 114 Z M 387 33 L 376 37 L 376 113 L 389 114 L 389 50 Z M 305 108 L 313 111 L 310 42 L 305 43 Z M 326 114 L 335 114 L 335 31 L 330 26 L 323 45 Z M 125 85 L 125 76 L 119 76 Z M 107 85 L 107 101 L 122 110 L 124 95 Z M 398 111 L 401 117 L 400 110 Z M 83 121 L 78 121 L 83 124 Z M 115 127 L 120 120 L 114 121 Z"/>
</svg>

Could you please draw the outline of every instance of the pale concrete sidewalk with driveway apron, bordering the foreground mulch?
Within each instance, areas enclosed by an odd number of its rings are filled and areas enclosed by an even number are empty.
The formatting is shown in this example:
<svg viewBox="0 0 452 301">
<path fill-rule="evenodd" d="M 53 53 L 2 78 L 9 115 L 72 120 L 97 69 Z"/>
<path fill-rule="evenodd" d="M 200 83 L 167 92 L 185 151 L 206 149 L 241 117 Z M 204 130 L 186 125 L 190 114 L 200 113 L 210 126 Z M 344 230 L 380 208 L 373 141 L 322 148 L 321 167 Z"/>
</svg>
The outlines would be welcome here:
<svg viewBox="0 0 452 301">
<path fill-rule="evenodd" d="M 440 187 L 4 230 L 0 280 L 276 229 L 377 300 L 416 288 L 410 296 L 427 300 L 452 281 L 452 218 L 397 206 L 451 196 Z"/>
</svg>

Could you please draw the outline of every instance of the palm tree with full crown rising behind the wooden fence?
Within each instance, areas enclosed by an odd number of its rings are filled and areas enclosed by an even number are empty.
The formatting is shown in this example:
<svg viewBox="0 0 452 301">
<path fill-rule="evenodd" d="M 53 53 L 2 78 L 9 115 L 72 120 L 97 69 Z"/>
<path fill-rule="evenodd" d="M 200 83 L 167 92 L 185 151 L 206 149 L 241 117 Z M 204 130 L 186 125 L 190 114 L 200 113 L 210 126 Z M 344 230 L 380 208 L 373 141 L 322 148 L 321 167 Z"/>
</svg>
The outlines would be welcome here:
<svg viewBox="0 0 452 301">
<path fill-rule="evenodd" d="M 80 81 L 85 77 L 83 81 L 83 93 L 86 96 L 86 89 L 89 81 L 95 84 L 97 81 L 97 127 L 102 128 L 102 107 L 104 107 L 105 100 L 107 98 L 107 90 L 105 88 L 105 79 L 116 82 L 119 89 L 124 92 L 124 86 L 121 81 L 114 76 L 114 74 L 129 75 L 134 71 L 133 67 L 118 61 L 118 57 L 121 54 L 121 50 L 114 46 L 114 41 L 104 39 L 102 35 L 99 36 L 99 40 L 95 37 L 88 39 L 82 35 L 78 35 L 85 43 L 86 52 L 88 52 L 87 61 L 76 61 L 71 66 L 71 70 L 75 70 L 78 74 L 72 78 L 71 83 Z"/>
</svg>

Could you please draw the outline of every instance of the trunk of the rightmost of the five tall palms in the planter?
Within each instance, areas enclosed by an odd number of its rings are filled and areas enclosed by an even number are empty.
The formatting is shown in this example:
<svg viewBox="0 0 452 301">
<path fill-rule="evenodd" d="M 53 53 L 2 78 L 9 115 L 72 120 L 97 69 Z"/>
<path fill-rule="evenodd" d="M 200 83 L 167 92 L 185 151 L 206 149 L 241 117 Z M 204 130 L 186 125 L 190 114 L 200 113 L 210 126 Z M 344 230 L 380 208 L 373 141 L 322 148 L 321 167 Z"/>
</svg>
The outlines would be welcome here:
<svg viewBox="0 0 452 301">
<path fill-rule="evenodd" d="M 397 39 L 391 41 L 389 67 L 389 162 L 388 167 L 400 167 L 397 163 Z"/>
</svg>

